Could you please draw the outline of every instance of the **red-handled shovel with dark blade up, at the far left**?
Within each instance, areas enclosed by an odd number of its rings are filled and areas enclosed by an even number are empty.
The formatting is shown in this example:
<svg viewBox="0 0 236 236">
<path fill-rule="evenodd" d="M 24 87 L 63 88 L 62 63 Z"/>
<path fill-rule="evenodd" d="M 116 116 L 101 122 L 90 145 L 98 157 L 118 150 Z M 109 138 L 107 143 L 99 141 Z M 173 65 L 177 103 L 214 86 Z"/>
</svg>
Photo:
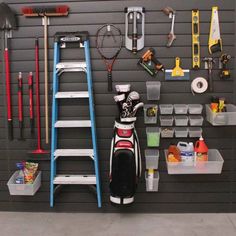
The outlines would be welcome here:
<svg viewBox="0 0 236 236">
<path fill-rule="evenodd" d="M 8 7 L 6 3 L 0 4 L 0 28 L 3 32 L 2 40 L 4 44 L 4 64 L 6 79 L 6 102 L 7 102 L 7 121 L 8 121 L 8 139 L 13 139 L 13 122 L 11 111 L 11 78 L 10 78 L 10 62 L 8 39 L 12 38 L 12 30 L 16 29 L 15 13 Z"/>
</svg>

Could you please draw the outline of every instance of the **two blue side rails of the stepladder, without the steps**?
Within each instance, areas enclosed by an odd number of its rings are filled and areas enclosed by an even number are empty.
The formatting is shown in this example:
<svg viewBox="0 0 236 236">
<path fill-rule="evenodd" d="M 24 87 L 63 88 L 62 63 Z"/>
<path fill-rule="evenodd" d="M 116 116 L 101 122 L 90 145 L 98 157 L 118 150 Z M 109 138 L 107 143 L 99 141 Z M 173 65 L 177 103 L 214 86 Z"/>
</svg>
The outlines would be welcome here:
<svg viewBox="0 0 236 236">
<path fill-rule="evenodd" d="M 80 32 L 72 32 L 70 34 L 79 34 Z M 63 33 L 59 33 L 63 34 Z M 68 34 L 68 33 L 66 33 Z M 82 40 L 84 51 L 85 51 L 85 63 L 86 63 L 86 80 L 88 84 L 88 100 L 89 100 L 89 113 L 91 121 L 91 134 L 92 134 L 92 144 L 93 144 L 93 161 L 96 176 L 96 193 L 97 193 L 97 204 L 100 208 L 102 206 L 101 199 L 101 186 L 100 186 L 100 175 L 99 175 L 99 162 L 98 162 L 98 150 L 97 150 L 97 135 L 96 135 L 96 122 L 95 122 L 95 112 L 94 112 L 94 99 L 93 99 L 93 86 L 92 86 L 92 73 L 91 73 L 91 62 L 90 62 L 90 48 L 89 39 L 87 32 L 81 32 L 81 34 L 87 34 L 87 37 Z M 82 38 L 82 37 L 81 37 Z M 56 94 L 58 93 L 59 87 L 59 75 L 57 73 L 57 64 L 60 60 L 60 42 L 55 40 L 54 42 L 54 64 L 53 64 L 53 101 L 52 101 L 52 137 L 51 137 L 51 175 L 50 175 L 50 206 L 54 206 L 54 194 L 55 194 L 55 183 L 54 179 L 56 177 L 56 158 L 55 150 L 57 149 L 57 127 L 55 123 L 58 121 L 58 99 Z M 72 183 L 70 183 L 72 184 Z M 88 183 L 89 184 L 89 183 Z"/>
</svg>

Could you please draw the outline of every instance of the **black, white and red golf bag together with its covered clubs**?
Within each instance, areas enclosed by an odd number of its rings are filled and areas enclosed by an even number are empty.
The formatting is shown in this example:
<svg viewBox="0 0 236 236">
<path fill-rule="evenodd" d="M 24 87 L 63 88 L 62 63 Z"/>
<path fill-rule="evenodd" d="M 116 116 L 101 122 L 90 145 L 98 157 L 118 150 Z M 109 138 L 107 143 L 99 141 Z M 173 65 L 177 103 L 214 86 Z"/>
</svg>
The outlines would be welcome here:
<svg viewBox="0 0 236 236">
<path fill-rule="evenodd" d="M 141 177 L 141 153 L 134 122 L 136 112 L 143 103 L 137 92 L 128 93 L 130 87 L 127 86 L 116 86 L 121 94 L 114 97 L 120 111 L 120 121 L 115 121 L 111 142 L 110 201 L 118 205 L 133 203 L 138 178 Z"/>
</svg>

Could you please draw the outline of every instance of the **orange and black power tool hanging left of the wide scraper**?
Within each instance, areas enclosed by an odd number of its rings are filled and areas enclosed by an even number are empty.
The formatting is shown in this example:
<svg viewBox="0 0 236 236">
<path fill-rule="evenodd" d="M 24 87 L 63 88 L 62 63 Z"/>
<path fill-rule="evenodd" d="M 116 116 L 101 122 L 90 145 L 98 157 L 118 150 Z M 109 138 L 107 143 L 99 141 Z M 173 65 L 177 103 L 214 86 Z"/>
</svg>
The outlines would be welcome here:
<svg viewBox="0 0 236 236">
<path fill-rule="evenodd" d="M 138 65 L 142 66 L 151 76 L 155 76 L 159 71 L 164 72 L 163 64 L 155 57 L 155 50 L 149 48 L 139 59 Z"/>
</svg>

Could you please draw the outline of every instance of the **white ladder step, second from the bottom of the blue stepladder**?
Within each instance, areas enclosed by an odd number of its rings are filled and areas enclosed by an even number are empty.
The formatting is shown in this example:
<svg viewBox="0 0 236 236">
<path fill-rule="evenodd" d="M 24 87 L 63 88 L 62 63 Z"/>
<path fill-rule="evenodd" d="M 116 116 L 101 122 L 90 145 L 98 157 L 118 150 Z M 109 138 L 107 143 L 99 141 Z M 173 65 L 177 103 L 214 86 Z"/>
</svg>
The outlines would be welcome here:
<svg viewBox="0 0 236 236">
<path fill-rule="evenodd" d="M 54 152 L 55 157 L 66 157 L 66 156 L 75 156 L 75 157 L 91 157 L 93 159 L 94 151 L 93 149 L 56 149 Z"/>
</svg>

